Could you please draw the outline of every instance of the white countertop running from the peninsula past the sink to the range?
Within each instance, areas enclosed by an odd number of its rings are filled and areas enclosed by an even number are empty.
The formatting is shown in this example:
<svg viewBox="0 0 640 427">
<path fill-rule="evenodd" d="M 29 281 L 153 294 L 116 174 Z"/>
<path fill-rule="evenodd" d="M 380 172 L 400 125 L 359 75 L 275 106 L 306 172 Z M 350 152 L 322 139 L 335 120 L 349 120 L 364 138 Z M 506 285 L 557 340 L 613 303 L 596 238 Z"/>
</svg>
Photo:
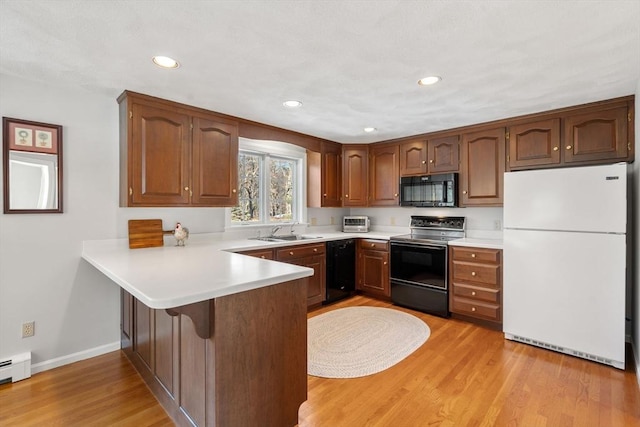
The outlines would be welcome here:
<svg viewBox="0 0 640 427">
<path fill-rule="evenodd" d="M 263 242 L 192 235 L 186 246 L 129 249 L 128 239 L 83 242 L 82 258 L 150 308 L 164 309 L 312 276 L 313 269 L 233 252 L 394 233 L 329 232 L 310 240 Z"/>
</svg>

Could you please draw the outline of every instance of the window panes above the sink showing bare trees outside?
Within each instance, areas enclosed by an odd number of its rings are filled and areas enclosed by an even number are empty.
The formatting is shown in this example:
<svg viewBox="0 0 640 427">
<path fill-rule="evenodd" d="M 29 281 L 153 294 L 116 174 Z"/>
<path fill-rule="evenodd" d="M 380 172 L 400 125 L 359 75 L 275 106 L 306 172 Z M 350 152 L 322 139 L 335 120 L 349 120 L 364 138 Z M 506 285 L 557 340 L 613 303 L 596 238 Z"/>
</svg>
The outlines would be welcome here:
<svg viewBox="0 0 640 427">
<path fill-rule="evenodd" d="M 238 206 L 231 221 L 278 223 L 296 220 L 298 160 L 241 151 L 238 155 Z"/>
</svg>

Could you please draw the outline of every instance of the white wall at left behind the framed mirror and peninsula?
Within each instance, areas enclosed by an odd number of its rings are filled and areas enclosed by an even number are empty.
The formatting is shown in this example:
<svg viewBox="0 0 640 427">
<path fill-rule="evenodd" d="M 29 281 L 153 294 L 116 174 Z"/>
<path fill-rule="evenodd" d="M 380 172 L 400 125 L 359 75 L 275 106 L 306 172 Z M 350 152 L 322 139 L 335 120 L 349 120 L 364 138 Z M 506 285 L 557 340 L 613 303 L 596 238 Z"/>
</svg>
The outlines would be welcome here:
<svg viewBox="0 0 640 427">
<path fill-rule="evenodd" d="M 131 218 L 223 231 L 224 210 L 118 207 L 115 96 L 0 74 L 0 114 L 62 125 L 64 148 L 64 213 L 0 215 L 0 358 L 30 350 L 38 371 L 119 348 L 119 288 L 81 259 L 82 241 L 126 237 Z"/>
</svg>

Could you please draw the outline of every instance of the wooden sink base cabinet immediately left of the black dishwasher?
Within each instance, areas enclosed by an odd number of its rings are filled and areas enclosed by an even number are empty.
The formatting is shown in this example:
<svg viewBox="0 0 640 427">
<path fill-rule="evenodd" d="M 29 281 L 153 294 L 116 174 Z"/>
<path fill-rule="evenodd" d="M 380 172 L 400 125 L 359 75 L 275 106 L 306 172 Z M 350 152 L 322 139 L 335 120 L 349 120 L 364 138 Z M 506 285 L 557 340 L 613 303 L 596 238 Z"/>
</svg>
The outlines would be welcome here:
<svg viewBox="0 0 640 427">
<path fill-rule="evenodd" d="M 326 297 L 326 258 L 325 244 L 287 246 L 275 249 L 275 259 L 288 264 L 313 268 L 311 277 L 301 279 L 307 287 L 307 306 L 321 304 Z"/>
</svg>

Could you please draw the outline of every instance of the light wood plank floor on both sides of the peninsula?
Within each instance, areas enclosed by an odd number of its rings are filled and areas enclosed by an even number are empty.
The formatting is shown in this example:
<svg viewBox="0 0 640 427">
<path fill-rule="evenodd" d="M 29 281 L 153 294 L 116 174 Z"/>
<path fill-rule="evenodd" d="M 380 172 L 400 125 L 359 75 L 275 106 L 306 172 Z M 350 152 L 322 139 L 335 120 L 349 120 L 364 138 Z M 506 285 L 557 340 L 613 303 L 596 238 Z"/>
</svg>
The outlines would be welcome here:
<svg viewBox="0 0 640 427">
<path fill-rule="evenodd" d="M 353 305 L 394 307 L 357 296 L 309 316 Z M 309 377 L 300 427 L 640 426 L 632 366 L 620 371 L 506 341 L 466 322 L 397 309 L 424 319 L 429 340 L 379 374 Z M 31 425 L 172 423 L 126 357 L 113 352 L 0 386 L 0 426 Z"/>
</svg>

